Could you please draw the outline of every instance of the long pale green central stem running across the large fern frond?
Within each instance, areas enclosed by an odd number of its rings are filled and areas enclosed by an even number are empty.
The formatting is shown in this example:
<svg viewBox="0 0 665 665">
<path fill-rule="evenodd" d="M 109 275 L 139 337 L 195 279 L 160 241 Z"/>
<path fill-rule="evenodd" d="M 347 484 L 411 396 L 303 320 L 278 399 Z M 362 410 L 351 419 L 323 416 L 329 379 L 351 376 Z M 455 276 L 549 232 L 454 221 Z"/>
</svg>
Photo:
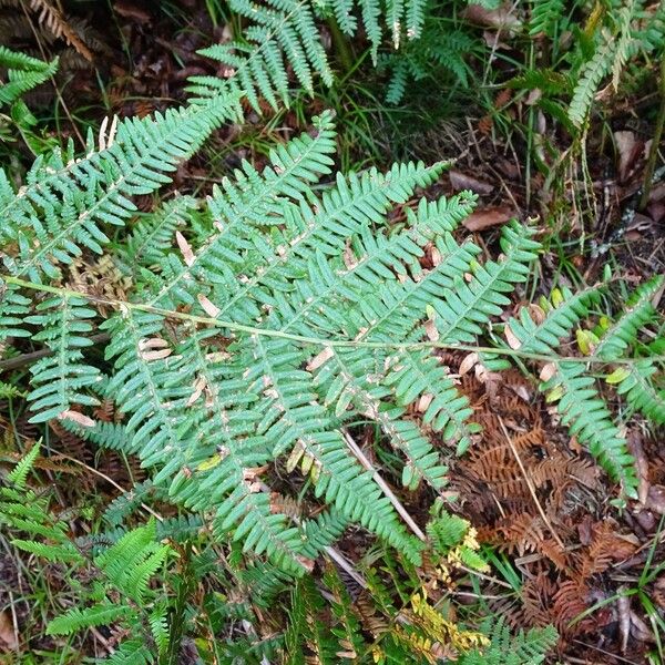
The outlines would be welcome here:
<svg viewBox="0 0 665 665">
<path fill-rule="evenodd" d="M 100 305 L 106 305 L 115 307 L 120 310 L 135 310 L 145 311 L 147 314 L 156 314 L 165 318 L 177 319 L 182 321 L 191 321 L 194 324 L 202 324 L 206 326 L 214 326 L 216 328 L 226 328 L 236 332 L 246 332 L 248 335 L 260 335 L 264 337 L 277 337 L 280 339 L 290 339 L 304 345 L 321 346 L 331 348 L 365 348 L 365 349 L 449 349 L 460 351 L 471 351 L 479 354 L 492 354 L 495 356 L 508 356 L 511 358 L 524 358 L 528 360 L 540 360 L 543 362 L 559 361 L 559 362 L 583 362 L 583 364 L 597 364 L 607 365 L 607 360 L 598 358 L 596 356 L 548 356 L 545 354 L 535 354 L 531 351 L 521 351 L 520 349 L 498 348 L 488 346 L 477 346 L 470 344 L 450 344 L 441 341 L 362 341 L 356 339 L 323 339 L 320 337 L 307 337 L 305 335 L 294 335 L 291 332 L 284 332 L 282 330 L 273 330 L 270 328 L 256 328 L 254 326 L 245 326 L 243 324 L 236 324 L 234 321 L 225 321 L 222 319 L 213 318 L 209 316 L 200 316 L 196 314 L 187 314 L 184 311 L 175 311 L 173 309 L 164 309 L 162 307 L 153 307 L 152 305 L 144 305 L 142 303 L 129 303 L 126 300 L 116 300 L 113 298 L 100 298 L 92 296 L 84 291 L 78 291 L 69 288 L 61 288 L 58 286 L 51 286 L 48 284 L 38 284 L 35 282 L 28 282 L 20 277 L 12 277 L 10 275 L 3 275 L 0 278 L 0 284 L 4 282 L 7 284 L 13 284 L 31 290 L 57 294 L 66 297 L 76 297 L 88 300 L 89 303 L 98 303 Z M 655 361 L 665 362 L 665 354 L 652 356 Z M 613 360 L 614 365 L 634 365 L 638 362 L 638 358 L 621 358 Z"/>
</svg>

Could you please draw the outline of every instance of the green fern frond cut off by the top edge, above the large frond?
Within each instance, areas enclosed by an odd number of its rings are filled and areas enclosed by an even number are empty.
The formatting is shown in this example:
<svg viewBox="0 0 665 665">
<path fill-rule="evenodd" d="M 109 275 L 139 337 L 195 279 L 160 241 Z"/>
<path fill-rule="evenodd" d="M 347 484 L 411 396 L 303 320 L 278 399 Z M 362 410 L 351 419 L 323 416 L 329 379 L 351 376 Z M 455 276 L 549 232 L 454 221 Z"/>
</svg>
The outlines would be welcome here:
<svg viewBox="0 0 665 665">
<path fill-rule="evenodd" d="M 191 92 L 208 99 L 227 92 L 243 93 L 260 110 L 260 100 L 277 109 L 287 104 L 289 68 L 299 85 L 314 92 L 315 76 L 332 84 L 332 72 L 319 37 L 317 18 L 328 18 L 340 39 L 355 35 L 359 27 L 370 43 L 376 62 L 385 28 L 392 45 L 420 38 L 426 18 L 424 0 L 232 0 L 231 10 L 249 22 L 239 39 L 203 49 L 201 54 L 224 65 L 223 76 L 196 75 L 190 79 Z M 458 65 L 461 66 L 461 65 Z M 403 79 L 405 76 L 402 76 Z"/>
</svg>

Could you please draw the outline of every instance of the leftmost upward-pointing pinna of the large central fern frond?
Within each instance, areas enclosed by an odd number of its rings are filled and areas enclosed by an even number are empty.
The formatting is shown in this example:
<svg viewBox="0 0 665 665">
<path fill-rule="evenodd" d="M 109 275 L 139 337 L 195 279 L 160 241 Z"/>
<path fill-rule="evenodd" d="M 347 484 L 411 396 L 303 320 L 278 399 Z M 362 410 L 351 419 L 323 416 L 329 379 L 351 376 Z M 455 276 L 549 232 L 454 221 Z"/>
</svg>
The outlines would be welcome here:
<svg viewBox="0 0 665 665">
<path fill-rule="evenodd" d="M 171 182 L 166 174 L 231 116 L 229 105 L 219 96 L 205 106 L 122 121 L 111 146 L 90 145 L 84 160 L 71 147 L 38 157 L 27 184 L 2 201 L 0 239 L 19 247 L 4 258 L 9 273 L 40 282 L 42 273 L 58 277 L 57 264 L 70 264 L 82 248 L 101 254 L 109 242 L 101 225 L 124 225 L 136 209 L 131 196 Z"/>
</svg>

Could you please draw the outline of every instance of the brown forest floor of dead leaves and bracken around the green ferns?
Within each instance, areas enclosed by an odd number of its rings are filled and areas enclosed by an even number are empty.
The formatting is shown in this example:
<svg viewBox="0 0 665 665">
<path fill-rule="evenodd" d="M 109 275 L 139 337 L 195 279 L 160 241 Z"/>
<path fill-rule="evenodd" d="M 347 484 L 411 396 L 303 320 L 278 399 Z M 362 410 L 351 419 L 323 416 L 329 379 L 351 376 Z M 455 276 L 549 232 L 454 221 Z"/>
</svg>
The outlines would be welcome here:
<svg viewBox="0 0 665 665">
<path fill-rule="evenodd" d="M 7 10 L 0 2 L 0 30 L 2 11 Z M 153 6 L 116 0 L 96 3 L 93 10 L 85 7 L 83 17 L 93 62 L 71 48 L 35 40 L 34 34 L 14 32 L 9 43 L 28 44 L 38 53 L 39 49 L 60 53 L 57 85 L 42 86 L 32 103 L 53 133 L 71 136 L 79 147 L 85 129 L 98 126 L 104 116 L 144 116 L 164 110 L 185 100 L 187 76 L 223 73 L 196 53 L 225 37 L 224 22 L 214 25 L 204 2 Z M 364 117 L 354 105 L 354 94 L 346 91 L 337 99 L 344 166 L 382 167 L 403 157 L 454 158 L 433 193 L 470 188 L 479 195 L 478 211 L 464 222 L 461 234 L 473 234 L 490 252 L 497 247 L 498 229 L 509 219 L 532 219 L 538 226 L 546 252 L 518 294 L 515 308 L 532 301 L 536 291 L 592 284 L 606 264 L 635 284 L 665 272 L 665 181 L 654 185 L 647 206 L 637 212 L 654 131 L 653 121 L 644 120 L 648 114 L 641 111 L 657 104 L 653 91 L 618 99 L 605 119 L 607 126 L 586 139 L 584 175 L 571 165 L 556 182 L 548 182 L 529 166 L 525 135 L 510 131 L 511 122 L 523 123 L 529 114 L 528 103 L 513 103 L 510 91 L 492 93 L 495 115 L 478 104 L 464 114 L 456 111 L 433 122 L 430 117 L 422 131 L 412 131 L 401 144 L 392 133 L 395 111 L 375 110 Z M 278 114 L 249 112 L 244 126 L 218 131 L 198 156 L 178 170 L 172 186 L 185 193 L 205 192 L 241 160 L 260 166 L 272 141 L 306 131 L 308 119 L 330 101 L 321 92 Z M 358 135 L 366 135 L 365 140 L 358 141 Z M 565 151 L 565 139 L 551 133 L 549 140 Z M 31 160 L 28 151 L 21 160 Z M 139 203 L 149 209 L 153 202 Z M 630 420 L 627 437 L 637 460 L 640 500 L 622 504 L 618 488 L 560 427 L 534 382 L 516 371 L 464 372 L 462 360 L 462 355 L 447 355 L 483 433 L 451 468 L 448 490 L 459 497 L 460 514 L 478 529 L 494 572 L 461 580 L 454 593 L 462 602 L 480 602 L 489 613 L 503 615 L 515 628 L 553 623 L 562 635 L 562 662 L 645 662 L 646 652 L 661 647 L 654 641 L 665 636 L 658 614 L 658 608 L 665 610 L 662 438 L 640 418 Z M 105 417 L 114 417 L 110 407 Z M 10 422 L 22 436 L 35 436 L 24 415 L 2 412 L 0 427 L 7 426 L 9 432 Z M 368 441 L 371 436 L 369 430 Z M 8 438 L 3 454 L 11 459 Z M 49 446 L 61 463 L 58 494 L 63 510 L 81 502 L 102 505 L 117 495 L 119 487 L 143 478 L 136 460 L 99 453 L 57 424 Z M 71 482 L 62 464 L 71 472 Z M 45 470 L 47 482 L 49 473 Z M 413 518 L 424 523 L 428 498 L 418 492 L 399 495 Z M 354 532 L 339 548 L 355 561 L 367 543 L 362 533 Z M 28 586 L 37 598 L 37 576 L 13 554 L 0 551 L 0 593 L 2 586 L 13 585 L 14 593 Z M 14 617 L 0 614 L 0 646 L 3 640 L 8 644 L 13 640 L 12 621 L 37 630 L 39 615 L 27 604 L 16 607 Z"/>
</svg>

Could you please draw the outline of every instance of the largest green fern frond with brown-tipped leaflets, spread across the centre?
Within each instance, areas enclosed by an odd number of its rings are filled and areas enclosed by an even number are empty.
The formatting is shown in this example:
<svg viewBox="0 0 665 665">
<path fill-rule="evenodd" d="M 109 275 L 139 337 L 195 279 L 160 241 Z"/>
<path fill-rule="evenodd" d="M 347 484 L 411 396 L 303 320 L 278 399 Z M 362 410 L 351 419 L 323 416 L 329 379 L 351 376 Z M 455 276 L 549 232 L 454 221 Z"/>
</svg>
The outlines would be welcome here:
<svg viewBox="0 0 665 665">
<path fill-rule="evenodd" d="M 275 147 L 262 172 L 244 163 L 225 178 L 195 224 L 192 201 L 176 197 L 119 234 L 119 269 L 135 278 L 126 301 L 62 286 L 78 256 L 101 252 L 109 228 L 131 218 L 130 196 L 166 182 L 235 101 L 124 121 L 83 160 L 71 151 L 39 160 L 18 191 L 2 181 L 10 222 L 0 340 L 11 351 L 14 339 L 37 332 L 51 351 L 32 368 L 34 421 L 59 418 L 86 439 L 136 453 L 155 487 L 204 513 L 216 538 L 300 575 L 339 536 L 341 519 L 417 562 L 424 536 L 407 528 L 358 454 L 354 424 L 377 423 L 402 460 L 407 488 L 424 482 L 440 492 L 447 456 L 472 444 L 478 428 L 437 348 L 477 347 L 528 279 L 539 244 L 516 223 L 502 229 L 497 260 L 482 260 L 470 239 L 459 243 L 453 233 L 473 196 L 419 198 L 444 163 L 332 176 L 335 131 L 324 114 L 311 135 Z M 403 221 L 389 222 L 405 204 Z M 600 360 L 628 368 L 620 390 L 647 415 L 661 412 L 654 360 L 630 362 L 614 350 L 635 346 L 640 326 L 655 320 L 647 305 L 659 284 L 645 285 L 623 318 L 597 331 Z M 585 358 L 556 355 L 595 294 L 553 297 L 538 323 L 511 319 L 513 349 L 497 341 L 479 359 L 488 367 L 498 354 L 549 359 L 545 388 L 563 421 L 632 493 L 632 460 Z M 90 334 L 104 317 L 105 358 L 92 358 Z M 100 398 L 117 403 L 123 423 L 92 418 L 86 408 Z M 298 470 L 339 519 L 324 511 L 295 522 L 280 512 L 273 470 Z"/>
</svg>

